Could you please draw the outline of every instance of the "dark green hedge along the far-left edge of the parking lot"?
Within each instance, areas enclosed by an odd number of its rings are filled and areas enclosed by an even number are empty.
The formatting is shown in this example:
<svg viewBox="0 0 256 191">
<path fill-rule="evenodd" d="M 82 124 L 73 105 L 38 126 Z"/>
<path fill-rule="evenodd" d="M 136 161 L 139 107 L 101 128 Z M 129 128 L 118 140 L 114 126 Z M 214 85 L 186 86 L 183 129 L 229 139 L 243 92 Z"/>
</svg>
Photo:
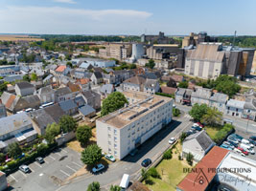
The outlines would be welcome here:
<svg viewBox="0 0 256 191">
<path fill-rule="evenodd" d="M 25 157 L 21 159 L 9 161 L 6 166 L 0 166 L 0 170 L 9 175 L 16 171 L 20 165 L 29 164 L 35 161 L 35 158 L 37 157 L 44 157 L 45 155 L 51 153 L 56 147 L 56 143 L 51 145 L 40 144 L 34 153 L 26 154 Z"/>
</svg>

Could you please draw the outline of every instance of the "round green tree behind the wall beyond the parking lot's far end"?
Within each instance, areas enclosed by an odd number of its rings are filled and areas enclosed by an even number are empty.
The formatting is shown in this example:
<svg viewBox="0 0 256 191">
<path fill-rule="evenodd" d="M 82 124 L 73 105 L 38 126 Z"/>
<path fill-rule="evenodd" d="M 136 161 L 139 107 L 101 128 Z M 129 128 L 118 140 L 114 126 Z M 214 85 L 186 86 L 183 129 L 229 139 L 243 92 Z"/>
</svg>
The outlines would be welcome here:
<svg viewBox="0 0 256 191">
<path fill-rule="evenodd" d="M 73 117 L 65 115 L 60 117 L 58 125 L 63 133 L 68 133 L 76 130 L 78 124 Z"/>
</svg>

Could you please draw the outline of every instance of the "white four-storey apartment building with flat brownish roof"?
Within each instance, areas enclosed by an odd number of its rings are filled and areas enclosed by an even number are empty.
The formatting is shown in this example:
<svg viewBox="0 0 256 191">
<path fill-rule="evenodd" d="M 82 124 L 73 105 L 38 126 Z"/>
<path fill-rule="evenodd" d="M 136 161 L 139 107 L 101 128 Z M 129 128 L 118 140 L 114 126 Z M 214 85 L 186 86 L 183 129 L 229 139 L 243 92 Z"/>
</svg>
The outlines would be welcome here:
<svg viewBox="0 0 256 191">
<path fill-rule="evenodd" d="M 172 120 L 174 100 L 141 92 L 123 92 L 129 105 L 96 120 L 97 144 L 116 159 L 151 138 Z"/>
</svg>

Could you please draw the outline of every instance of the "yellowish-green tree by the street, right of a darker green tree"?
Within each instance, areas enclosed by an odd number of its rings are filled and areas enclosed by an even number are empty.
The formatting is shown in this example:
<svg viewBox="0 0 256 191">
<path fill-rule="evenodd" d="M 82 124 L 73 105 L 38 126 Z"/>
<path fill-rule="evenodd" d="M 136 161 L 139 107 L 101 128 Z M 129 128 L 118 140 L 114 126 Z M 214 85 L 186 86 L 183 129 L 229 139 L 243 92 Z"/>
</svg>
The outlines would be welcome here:
<svg viewBox="0 0 256 191">
<path fill-rule="evenodd" d="M 217 108 L 208 108 L 206 114 L 200 119 L 200 122 L 211 126 L 221 124 L 221 121 L 222 113 L 219 112 Z"/>
</svg>

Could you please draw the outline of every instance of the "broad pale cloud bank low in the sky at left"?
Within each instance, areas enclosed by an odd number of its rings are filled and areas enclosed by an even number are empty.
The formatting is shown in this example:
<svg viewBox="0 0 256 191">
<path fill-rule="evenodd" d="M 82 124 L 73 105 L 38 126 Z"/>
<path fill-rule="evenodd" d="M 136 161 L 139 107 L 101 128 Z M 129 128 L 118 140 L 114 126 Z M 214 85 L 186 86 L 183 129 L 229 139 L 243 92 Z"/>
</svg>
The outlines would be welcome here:
<svg viewBox="0 0 256 191">
<path fill-rule="evenodd" d="M 63 7 L 0 9 L 1 32 L 128 33 L 140 30 L 151 12 L 135 10 L 85 10 Z M 134 30 L 135 29 L 135 30 Z"/>
</svg>

